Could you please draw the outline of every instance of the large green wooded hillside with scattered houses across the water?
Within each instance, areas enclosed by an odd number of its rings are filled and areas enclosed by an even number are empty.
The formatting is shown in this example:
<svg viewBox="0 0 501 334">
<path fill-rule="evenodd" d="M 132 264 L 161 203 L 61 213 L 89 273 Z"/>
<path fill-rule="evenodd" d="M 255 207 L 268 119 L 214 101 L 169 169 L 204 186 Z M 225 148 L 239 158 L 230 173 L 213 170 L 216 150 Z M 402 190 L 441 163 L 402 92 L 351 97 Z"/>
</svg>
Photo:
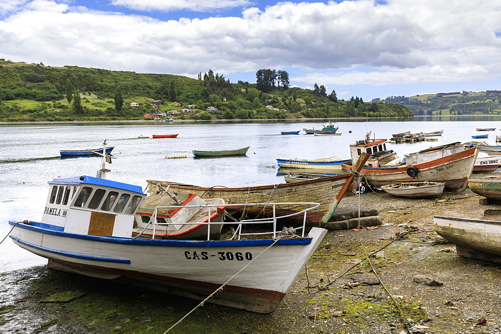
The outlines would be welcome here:
<svg viewBox="0 0 501 334">
<path fill-rule="evenodd" d="M 258 73 L 257 83 L 231 83 L 210 69 L 193 79 L 0 58 L 0 121 L 148 119 L 164 113 L 181 119 L 413 116 L 394 102 L 338 100 L 335 91 L 327 95 L 316 83 L 315 89 L 289 87 L 286 71 Z M 157 100 L 163 103 L 152 105 Z"/>
</svg>

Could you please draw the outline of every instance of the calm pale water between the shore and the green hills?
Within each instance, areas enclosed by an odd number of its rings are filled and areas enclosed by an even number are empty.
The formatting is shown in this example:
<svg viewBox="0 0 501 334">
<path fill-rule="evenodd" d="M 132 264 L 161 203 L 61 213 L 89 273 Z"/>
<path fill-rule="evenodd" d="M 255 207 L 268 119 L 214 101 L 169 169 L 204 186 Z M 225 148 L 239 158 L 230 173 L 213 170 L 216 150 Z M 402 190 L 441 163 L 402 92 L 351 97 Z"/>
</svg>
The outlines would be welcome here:
<svg viewBox="0 0 501 334">
<path fill-rule="evenodd" d="M 452 119 L 452 120 L 451 120 Z M 459 119 L 459 120 L 457 120 Z M 203 186 L 245 186 L 282 183 L 277 157 L 349 158 L 348 145 L 372 130 L 377 138 L 392 133 L 431 132 L 444 129 L 438 141 L 387 144 L 403 155 L 430 146 L 471 140 L 475 128 L 496 127 L 501 116 L 416 117 L 413 121 L 341 121 L 340 136 L 281 135 L 280 131 L 321 128 L 319 122 L 186 123 L 186 124 L 43 124 L 0 125 L 0 240 L 9 232 L 8 221 L 39 220 L 45 205 L 47 181 L 56 177 L 95 176 L 99 157 L 60 159 L 60 149 L 114 145 L 116 159 L 108 165 L 108 178 L 146 186 L 146 179 L 171 180 Z M 351 131 L 351 133 L 349 133 Z M 139 135 L 179 133 L 177 138 L 139 139 Z M 250 146 L 246 156 L 194 158 L 191 150 L 232 149 Z M 186 154 L 166 159 L 165 155 Z M 0 244 L 0 268 L 17 269 L 44 264 L 46 260 L 14 245 L 8 237 Z"/>
</svg>

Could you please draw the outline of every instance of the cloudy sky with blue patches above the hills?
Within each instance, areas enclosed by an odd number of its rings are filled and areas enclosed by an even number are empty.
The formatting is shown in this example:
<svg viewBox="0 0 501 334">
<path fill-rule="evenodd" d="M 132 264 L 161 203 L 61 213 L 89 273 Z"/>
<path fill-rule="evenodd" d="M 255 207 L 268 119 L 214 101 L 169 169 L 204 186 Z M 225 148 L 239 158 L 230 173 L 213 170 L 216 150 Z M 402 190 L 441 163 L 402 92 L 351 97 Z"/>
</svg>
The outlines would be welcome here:
<svg viewBox="0 0 501 334">
<path fill-rule="evenodd" d="M 209 68 L 339 98 L 501 89 L 499 0 L 0 0 L 0 58 L 172 73 Z"/>
</svg>

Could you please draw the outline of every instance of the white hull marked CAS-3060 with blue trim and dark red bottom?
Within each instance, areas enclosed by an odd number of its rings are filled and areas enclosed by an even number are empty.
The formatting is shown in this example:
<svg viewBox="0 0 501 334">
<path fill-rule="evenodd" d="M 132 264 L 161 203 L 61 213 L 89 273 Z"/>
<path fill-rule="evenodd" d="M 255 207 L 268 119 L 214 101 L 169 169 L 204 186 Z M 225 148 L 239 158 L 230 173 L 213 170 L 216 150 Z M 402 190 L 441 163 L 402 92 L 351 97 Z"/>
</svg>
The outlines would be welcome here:
<svg viewBox="0 0 501 334">
<path fill-rule="evenodd" d="M 327 232 L 314 227 L 308 238 L 280 239 L 269 247 L 273 240 L 131 239 L 9 223 L 15 225 L 14 242 L 48 258 L 52 268 L 195 299 L 204 299 L 250 262 L 208 301 L 259 313 L 275 310 Z"/>
</svg>

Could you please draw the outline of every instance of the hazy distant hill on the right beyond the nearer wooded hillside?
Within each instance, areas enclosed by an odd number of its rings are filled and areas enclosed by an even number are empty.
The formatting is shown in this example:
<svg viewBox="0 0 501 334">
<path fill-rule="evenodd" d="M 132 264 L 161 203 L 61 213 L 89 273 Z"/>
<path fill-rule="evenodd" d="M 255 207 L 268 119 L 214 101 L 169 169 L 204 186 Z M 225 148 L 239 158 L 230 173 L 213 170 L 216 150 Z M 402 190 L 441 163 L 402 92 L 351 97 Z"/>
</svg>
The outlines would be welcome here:
<svg viewBox="0 0 501 334">
<path fill-rule="evenodd" d="M 389 96 L 372 102 L 398 103 L 415 115 L 500 114 L 501 90 L 454 91 L 416 96 Z"/>
</svg>

